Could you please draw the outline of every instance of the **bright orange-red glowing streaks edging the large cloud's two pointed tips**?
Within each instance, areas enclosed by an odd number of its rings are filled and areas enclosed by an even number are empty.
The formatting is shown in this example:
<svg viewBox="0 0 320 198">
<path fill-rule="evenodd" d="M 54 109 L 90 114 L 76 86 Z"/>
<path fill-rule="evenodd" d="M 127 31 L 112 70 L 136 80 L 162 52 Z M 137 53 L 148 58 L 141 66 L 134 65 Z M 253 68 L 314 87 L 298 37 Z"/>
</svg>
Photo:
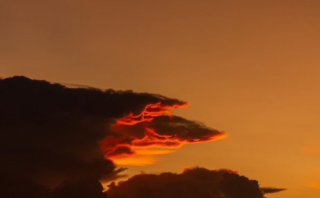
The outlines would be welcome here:
<svg viewBox="0 0 320 198">
<path fill-rule="evenodd" d="M 188 106 L 189 103 L 186 102 L 171 105 L 163 105 L 161 102 L 148 104 L 141 112 L 130 112 L 122 118 L 117 118 L 116 123 L 112 125 L 112 127 L 121 125 L 133 126 L 140 122 L 151 122 L 154 117 L 161 116 L 163 114 L 167 114 L 171 117 L 172 114 L 169 109 Z M 122 165 L 149 165 L 158 160 L 154 155 L 163 155 L 174 152 L 173 150 L 154 150 L 156 148 L 177 149 L 187 143 L 215 141 L 227 137 L 225 132 L 221 132 L 220 134 L 205 137 L 204 140 L 181 139 L 178 137 L 175 138 L 168 135 L 156 134 L 152 129 L 147 127 L 144 127 L 144 129 L 145 132 L 143 138 L 132 138 L 130 142 L 126 141 L 125 137 L 117 139 L 113 136 L 109 136 L 102 140 L 100 142 L 100 147 L 105 153 L 105 158 L 112 160 L 116 164 Z M 120 147 L 122 147 L 122 149 L 126 148 L 130 151 L 115 154 L 116 150 Z"/>
</svg>

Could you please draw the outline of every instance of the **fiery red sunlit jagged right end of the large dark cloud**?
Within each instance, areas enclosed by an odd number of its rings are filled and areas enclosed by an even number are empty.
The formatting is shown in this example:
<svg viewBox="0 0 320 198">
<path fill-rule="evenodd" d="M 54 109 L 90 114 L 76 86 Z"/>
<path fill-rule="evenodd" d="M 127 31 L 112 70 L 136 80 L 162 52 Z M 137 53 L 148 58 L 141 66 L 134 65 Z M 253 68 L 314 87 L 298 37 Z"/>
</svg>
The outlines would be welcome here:
<svg viewBox="0 0 320 198">
<path fill-rule="evenodd" d="M 168 101 L 147 104 L 142 110 L 129 112 L 111 126 L 112 136 L 100 141 L 105 158 L 118 164 L 147 165 L 154 155 L 166 154 L 186 143 L 213 141 L 227 137 L 197 121 L 174 116 L 170 109 L 187 107 L 186 102 Z M 147 150 L 148 152 L 142 152 Z M 140 161 L 140 162 L 137 162 Z"/>
</svg>

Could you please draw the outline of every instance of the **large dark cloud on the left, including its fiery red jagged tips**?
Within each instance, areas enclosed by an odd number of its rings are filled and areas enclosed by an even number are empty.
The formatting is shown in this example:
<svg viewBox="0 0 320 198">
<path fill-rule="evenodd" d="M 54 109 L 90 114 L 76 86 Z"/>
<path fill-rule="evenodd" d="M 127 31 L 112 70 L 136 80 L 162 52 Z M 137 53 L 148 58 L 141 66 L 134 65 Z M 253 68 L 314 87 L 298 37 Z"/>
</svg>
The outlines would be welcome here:
<svg viewBox="0 0 320 198">
<path fill-rule="evenodd" d="M 0 94 L 0 173 L 45 186 L 88 175 L 111 180 L 121 177 L 117 160 L 148 164 L 183 144 L 226 136 L 171 115 L 188 103 L 158 94 L 67 88 L 26 77 L 1 79 Z"/>
</svg>

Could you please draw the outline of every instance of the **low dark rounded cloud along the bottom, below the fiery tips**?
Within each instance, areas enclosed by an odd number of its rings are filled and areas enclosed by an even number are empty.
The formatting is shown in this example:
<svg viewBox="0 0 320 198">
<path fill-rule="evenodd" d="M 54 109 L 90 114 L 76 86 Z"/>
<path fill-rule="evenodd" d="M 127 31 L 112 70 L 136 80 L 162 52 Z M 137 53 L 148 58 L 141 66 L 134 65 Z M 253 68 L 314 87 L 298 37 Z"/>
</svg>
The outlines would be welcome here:
<svg viewBox="0 0 320 198">
<path fill-rule="evenodd" d="M 182 174 L 164 172 L 159 175 L 136 175 L 118 185 L 111 183 L 107 194 L 110 198 L 263 198 L 266 192 L 262 189 L 258 181 L 240 176 L 237 171 L 196 167 L 186 169 Z"/>
</svg>

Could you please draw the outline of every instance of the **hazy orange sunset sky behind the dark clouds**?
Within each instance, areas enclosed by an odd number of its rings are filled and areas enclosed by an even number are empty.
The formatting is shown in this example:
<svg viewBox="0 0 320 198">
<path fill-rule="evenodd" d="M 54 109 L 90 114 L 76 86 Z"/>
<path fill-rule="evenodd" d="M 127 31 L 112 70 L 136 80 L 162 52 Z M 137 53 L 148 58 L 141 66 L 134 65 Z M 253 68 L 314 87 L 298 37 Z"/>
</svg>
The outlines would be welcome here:
<svg viewBox="0 0 320 198">
<path fill-rule="evenodd" d="M 267 197 L 315 198 L 319 9 L 308 0 L 0 0 L 0 76 L 177 98 L 189 105 L 172 115 L 228 135 L 118 161 L 128 177 L 227 168 L 287 189 Z"/>
</svg>

